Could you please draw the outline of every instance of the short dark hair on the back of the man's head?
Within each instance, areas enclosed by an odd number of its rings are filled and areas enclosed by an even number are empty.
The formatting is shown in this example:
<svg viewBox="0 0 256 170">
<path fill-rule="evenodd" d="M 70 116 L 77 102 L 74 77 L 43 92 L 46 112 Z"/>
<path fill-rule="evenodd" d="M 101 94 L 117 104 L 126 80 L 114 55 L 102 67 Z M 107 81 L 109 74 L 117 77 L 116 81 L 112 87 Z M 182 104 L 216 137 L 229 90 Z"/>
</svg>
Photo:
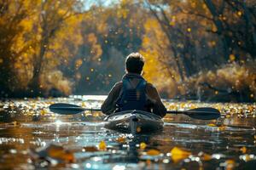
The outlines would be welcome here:
<svg viewBox="0 0 256 170">
<path fill-rule="evenodd" d="M 131 53 L 125 59 L 126 71 L 141 74 L 144 66 L 144 57 L 139 53 Z"/>
</svg>

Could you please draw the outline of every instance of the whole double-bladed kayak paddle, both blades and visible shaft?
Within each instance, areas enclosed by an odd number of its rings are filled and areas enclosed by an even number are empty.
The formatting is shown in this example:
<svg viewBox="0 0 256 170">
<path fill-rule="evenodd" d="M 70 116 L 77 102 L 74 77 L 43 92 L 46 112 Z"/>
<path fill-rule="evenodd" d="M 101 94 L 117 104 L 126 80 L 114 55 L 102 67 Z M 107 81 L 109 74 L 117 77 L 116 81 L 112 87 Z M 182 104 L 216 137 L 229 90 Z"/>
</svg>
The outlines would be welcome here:
<svg viewBox="0 0 256 170">
<path fill-rule="evenodd" d="M 101 111 L 101 109 L 83 108 L 79 105 L 58 103 L 49 105 L 49 111 L 61 114 L 61 115 L 74 115 L 81 113 L 82 111 Z M 220 112 L 217 109 L 211 107 L 201 107 L 191 109 L 189 111 L 167 111 L 171 114 L 184 114 L 194 119 L 200 120 L 212 120 L 217 119 L 220 116 Z"/>
</svg>

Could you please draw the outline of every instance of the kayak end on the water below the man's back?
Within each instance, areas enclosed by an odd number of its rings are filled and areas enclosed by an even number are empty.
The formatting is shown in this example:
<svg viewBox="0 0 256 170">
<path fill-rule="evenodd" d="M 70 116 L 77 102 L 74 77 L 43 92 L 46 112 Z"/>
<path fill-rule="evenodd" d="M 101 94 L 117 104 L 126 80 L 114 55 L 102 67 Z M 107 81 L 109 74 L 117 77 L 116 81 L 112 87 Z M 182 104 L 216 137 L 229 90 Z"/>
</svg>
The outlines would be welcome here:
<svg viewBox="0 0 256 170">
<path fill-rule="evenodd" d="M 160 116 L 147 111 L 120 111 L 107 116 L 105 127 L 121 133 L 152 133 L 160 131 L 164 122 Z"/>
</svg>

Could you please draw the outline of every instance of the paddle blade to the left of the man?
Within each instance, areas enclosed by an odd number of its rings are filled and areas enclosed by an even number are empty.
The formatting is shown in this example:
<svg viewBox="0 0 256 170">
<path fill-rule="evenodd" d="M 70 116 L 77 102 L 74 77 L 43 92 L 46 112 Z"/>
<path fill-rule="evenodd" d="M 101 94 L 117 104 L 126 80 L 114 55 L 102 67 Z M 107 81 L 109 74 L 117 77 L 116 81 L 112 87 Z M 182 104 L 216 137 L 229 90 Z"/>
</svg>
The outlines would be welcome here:
<svg viewBox="0 0 256 170">
<path fill-rule="evenodd" d="M 52 111 L 54 113 L 58 113 L 61 115 L 74 115 L 84 111 L 84 108 L 80 107 L 79 105 L 58 103 L 58 104 L 49 105 L 49 111 Z"/>
</svg>

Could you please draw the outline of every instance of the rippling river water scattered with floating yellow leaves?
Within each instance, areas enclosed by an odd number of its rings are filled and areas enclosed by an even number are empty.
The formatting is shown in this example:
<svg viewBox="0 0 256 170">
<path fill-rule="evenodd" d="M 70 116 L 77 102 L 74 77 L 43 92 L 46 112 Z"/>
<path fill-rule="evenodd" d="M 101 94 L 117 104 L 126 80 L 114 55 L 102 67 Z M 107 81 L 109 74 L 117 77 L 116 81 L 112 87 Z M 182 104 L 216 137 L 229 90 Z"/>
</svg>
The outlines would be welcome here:
<svg viewBox="0 0 256 170">
<path fill-rule="evenodd" d="M 168 115 L 161 132 L 117 133 L 101 112 L 60 116 L 54 103 L 99 108 L 104 96 L 0 102 L 0 169 L 255 169 L 256 105 L 177 102 L 169 110 L 211 106 L 218 120 Z"/>
</svg>

